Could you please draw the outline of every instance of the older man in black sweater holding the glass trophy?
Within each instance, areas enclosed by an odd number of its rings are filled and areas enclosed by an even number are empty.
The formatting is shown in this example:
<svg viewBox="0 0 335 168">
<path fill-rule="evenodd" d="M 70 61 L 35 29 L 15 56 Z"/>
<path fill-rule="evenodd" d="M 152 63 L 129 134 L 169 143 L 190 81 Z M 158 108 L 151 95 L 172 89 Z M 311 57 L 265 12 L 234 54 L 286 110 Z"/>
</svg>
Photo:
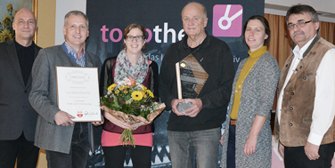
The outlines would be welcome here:
<svg viewBox="0 0 335 168">
<path fill-rule="evenodd" d="M 205 31 L 208 18 L 202 4 L 187 4 L 182 20 L 186 35 L 168 47 L 159 75 L 160 98 L 172 111 L 167 122 L 172 167 L 192 167 L 194 154 L 198 167 L 217 167 L 220 127 L 232 92 L 233 56 L 225 42 Z M 176 78 L 181 79 L 184 100 L 177 99 Z M 177 108 L 184 101 L 192 107 Z"/>
</svg>

